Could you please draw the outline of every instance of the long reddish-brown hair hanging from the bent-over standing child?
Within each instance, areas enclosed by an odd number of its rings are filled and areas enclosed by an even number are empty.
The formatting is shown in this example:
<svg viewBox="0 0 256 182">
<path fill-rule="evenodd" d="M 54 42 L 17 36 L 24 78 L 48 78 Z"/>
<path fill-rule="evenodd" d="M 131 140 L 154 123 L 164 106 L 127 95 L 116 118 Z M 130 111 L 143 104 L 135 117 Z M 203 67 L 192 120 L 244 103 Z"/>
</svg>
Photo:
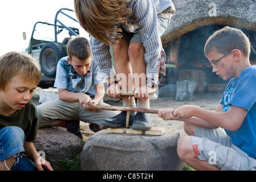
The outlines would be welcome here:
<svg viewBox="0 0 256 182">
<path fill-rule="evenodd" d="M 122 29 L 117 24 L 127 22 L 131 14 L 128 0 L 74 0 L 80 25 L 94 38 L 106 45 L 119 42 Z"/>
</svg>

